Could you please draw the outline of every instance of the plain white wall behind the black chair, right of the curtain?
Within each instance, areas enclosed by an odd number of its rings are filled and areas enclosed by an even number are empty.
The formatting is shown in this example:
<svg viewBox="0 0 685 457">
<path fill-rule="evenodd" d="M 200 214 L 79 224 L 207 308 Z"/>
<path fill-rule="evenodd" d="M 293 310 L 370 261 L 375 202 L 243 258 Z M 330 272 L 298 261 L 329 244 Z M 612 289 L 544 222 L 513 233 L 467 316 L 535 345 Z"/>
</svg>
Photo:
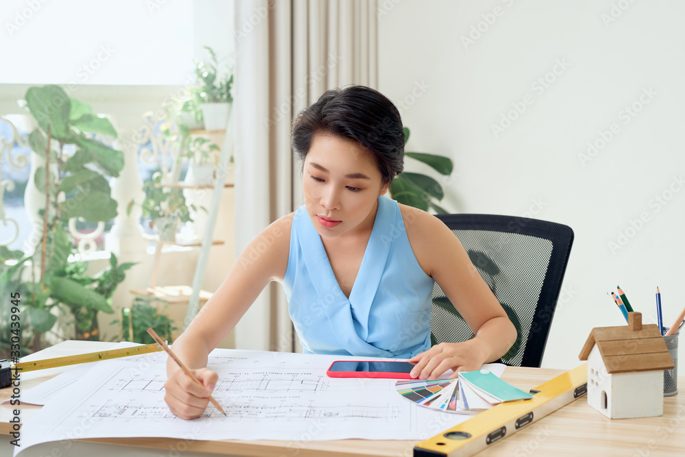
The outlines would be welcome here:
<svg viewBox="0 0 685 457">
<path fill-rule="evenodd" d="M 593 327 L 625 325 L 616 284 L 645 323 L 656 286 L 664 325 L 685 306 L 684 18 L 678 0 L 379 0 L 379 90 L 408 150 L 454 160 L 445 207 L 575 231 L 543 367 L 579 365 Z"/>
</svg>

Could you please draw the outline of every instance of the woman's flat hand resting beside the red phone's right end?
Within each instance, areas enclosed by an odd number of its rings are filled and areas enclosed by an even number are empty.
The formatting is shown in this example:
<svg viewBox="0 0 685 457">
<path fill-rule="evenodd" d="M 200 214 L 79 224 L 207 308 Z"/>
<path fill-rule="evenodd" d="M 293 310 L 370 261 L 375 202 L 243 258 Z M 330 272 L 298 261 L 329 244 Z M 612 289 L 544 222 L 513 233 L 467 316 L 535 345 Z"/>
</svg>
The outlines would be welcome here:
<svg viewBox="0 0 685 457">
<path fill-rule="evenodd" d="M 450 378 L 457 377 L 457 371 L 475 371 L 487 361 L 486 348 L 473 338 L 462 343 L 440 343 L 409 359 L 416 364 L 411 377 L 434 380 L 449 369 L 454 370 Z"/>
</svg>

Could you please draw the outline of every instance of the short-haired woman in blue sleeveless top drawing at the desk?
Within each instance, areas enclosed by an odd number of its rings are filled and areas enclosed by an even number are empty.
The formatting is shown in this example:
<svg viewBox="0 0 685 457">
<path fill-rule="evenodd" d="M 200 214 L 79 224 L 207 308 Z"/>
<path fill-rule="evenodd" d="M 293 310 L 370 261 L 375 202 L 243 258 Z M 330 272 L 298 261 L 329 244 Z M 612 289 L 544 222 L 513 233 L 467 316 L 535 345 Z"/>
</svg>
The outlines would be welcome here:
<svg viewBox="0 0 685 457">
<path fill-rule="evenodd" d="M 170 359 L 171 412 L 192 419 L 205 410 L 218 380 L 208 354 L 271 281 L 284 284 L 308 353 L 410 358 L 420 379 L 476 370 L 506 353 L 514 325 L 456 236 L 431 214 L 384 197 L 404 158 L 390 100 L 364 86 L 329 90 L 293 123 L 292 148 L 303 162 L 305 204 L 247 245 L 175 341 L 204 387 Z M 474 338 L 430 347 L 434 282 Z"/>
</svg>

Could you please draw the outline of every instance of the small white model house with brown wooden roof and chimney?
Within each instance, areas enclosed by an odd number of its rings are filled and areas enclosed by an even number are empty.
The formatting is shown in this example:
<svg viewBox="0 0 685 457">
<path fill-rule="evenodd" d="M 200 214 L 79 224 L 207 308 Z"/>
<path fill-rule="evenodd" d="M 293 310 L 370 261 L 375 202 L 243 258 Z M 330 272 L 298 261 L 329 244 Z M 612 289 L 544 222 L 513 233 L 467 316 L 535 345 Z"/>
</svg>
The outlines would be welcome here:
<svg viewBox="0 0 685 457">
<path fill-rule="evenodd" d="M 580 360 L 588 361 L 588 404 L 610 419 L 664 413 L 664 370 L 673 359 L 658 326 L 642 325 L 628 313 L 628 325 L 594 328 Z"/>
</svg>

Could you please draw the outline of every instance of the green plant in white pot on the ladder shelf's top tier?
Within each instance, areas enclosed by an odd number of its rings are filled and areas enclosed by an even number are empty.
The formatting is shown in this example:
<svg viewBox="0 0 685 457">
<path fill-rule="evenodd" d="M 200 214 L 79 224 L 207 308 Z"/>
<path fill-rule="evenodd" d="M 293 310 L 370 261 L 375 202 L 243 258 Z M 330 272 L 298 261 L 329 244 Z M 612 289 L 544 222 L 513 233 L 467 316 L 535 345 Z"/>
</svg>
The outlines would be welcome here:
<svg viewBox="0 0 685 457">
<path fill-rule="evenodd" d="M 219 62 L 212 48 L 204 47 L 210 54 L 210 61 L 195 62 L 195 76 L 197 90 L 202 103 L 202 115 L 206 130 L 221 130 L 228 123 L 230 103 L 233 101 L 231 86 L 233 73 L 227 71 L 219 73 Z"/>
</svg>

